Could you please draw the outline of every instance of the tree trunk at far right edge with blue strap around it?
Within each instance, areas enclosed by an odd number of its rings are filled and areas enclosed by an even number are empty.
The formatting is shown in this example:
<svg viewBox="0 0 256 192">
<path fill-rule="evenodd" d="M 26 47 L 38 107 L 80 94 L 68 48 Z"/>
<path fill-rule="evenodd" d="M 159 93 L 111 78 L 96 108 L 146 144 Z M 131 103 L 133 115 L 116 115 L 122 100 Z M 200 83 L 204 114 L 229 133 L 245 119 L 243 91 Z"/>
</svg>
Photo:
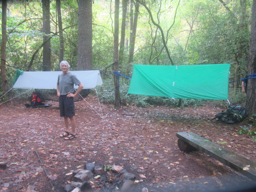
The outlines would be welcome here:
<svg viewBox="0 0 256 192">
<path fill-rule="evenodd" d="M 252 2 L 252 24 L 249 48 L 248 75 L 256 73 L 256 0 Z M 246 109 L 249 114 L 256 113 L 256 80 L 248 79 Z"/>
</svg>

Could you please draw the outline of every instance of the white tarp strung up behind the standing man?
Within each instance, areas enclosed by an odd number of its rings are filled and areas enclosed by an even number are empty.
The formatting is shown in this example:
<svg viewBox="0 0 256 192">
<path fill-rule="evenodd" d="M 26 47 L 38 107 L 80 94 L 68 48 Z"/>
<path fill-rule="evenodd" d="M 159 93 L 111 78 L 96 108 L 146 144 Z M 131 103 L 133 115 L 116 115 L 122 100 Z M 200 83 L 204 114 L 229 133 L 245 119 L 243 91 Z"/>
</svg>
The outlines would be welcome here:
<svg viewBox="0 0 256 192">
<path fill-rule="evenodd" d="M 96 85 L 102 85 L 99 70 L 69 72 L 77 76 L 79 81 L 84 85 L 84 89 L 92 89 Z M 58 75 L 61 73 L 62 71 L 24 71 L 13 85 L 13 88 L 56 89 Z M 78 86 L 75 86 L 75 88 L 78 88 Z"/>
</svg>

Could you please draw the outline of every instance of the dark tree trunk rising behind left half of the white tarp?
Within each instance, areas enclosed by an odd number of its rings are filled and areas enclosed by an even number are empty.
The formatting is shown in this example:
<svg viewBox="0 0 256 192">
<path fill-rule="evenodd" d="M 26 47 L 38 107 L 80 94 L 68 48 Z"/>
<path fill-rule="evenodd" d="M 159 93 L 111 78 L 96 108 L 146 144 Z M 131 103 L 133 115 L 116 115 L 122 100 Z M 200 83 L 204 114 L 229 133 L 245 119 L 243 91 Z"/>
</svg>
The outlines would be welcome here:
<svg viewBox="0 0 256 192">
<path fill-rule="evenodd" d="M 43 32 L 44 41 L 46 41 L 51 33 L 50 26 L 50 0 L 42 0 L 43 8 Z M 48 35 L 49 34 L 49 35 Z M 51 71 L 51 40 L 49 40 L 43 47 L 43 71 Z"/>
</svg>

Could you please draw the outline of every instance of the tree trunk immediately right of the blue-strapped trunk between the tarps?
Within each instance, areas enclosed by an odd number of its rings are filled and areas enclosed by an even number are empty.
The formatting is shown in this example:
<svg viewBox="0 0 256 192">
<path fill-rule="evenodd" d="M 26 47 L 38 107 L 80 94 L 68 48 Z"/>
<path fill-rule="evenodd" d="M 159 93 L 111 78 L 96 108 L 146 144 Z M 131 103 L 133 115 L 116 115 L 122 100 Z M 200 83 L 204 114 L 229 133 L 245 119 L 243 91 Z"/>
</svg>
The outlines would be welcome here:
<svg viewBox="0 0 256 192">
<path fill-rule="evenodd" d="M 126 27 L 125 21 L 126 21 L 127 3 L 128 3 L 128 0 L 123 0 L 121 39 L 120 39 L 120 48 L 119 48 L 119 57 L 118 57 L 118 67 L 121 69 L 122 69 L 123 60 L 124 60 L 124 41 L 125 41 L 125 27 Z"/>
</svg>

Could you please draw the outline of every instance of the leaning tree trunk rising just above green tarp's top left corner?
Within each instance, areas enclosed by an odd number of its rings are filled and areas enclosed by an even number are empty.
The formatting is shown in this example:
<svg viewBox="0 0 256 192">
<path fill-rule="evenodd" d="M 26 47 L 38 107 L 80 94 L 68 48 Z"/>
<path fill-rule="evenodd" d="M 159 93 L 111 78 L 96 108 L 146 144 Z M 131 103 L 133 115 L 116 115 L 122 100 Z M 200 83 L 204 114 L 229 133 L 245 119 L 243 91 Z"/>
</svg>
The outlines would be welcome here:
<svg viewBox="0 0 256 192">
<path fill-rule="evenodd" d="M 133 26 L 132 26 L 132 35 L 131 35 L 132 37 L 130 37 L 129 63 L 131 63 L 133 61 L 133 53 L 134 53 L 136 30 L 137 30 L 137 21 L 138 21 L 138 16 L 139 16 L 139 7 L 140 7 L 140 3 L 136 2 L 135 10 L 134 10 Z"/>
</svg>

